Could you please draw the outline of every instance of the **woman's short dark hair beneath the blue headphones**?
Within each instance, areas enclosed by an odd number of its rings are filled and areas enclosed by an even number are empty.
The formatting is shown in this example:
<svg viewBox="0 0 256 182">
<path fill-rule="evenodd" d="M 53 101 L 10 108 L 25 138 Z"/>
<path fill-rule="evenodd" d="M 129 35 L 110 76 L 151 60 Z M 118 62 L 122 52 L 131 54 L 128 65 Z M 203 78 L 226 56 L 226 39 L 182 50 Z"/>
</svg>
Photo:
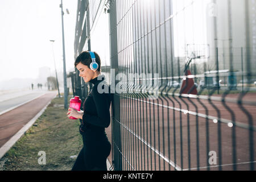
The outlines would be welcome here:
<svg viewBox="0 0 256 182">
<path fill-rule="evenodd" d="M 100 56 L 98 56 L 98 54 L 96 52 L 93 52 L 93 53 L 94 53 L 94 55 L 96 57 L 96 63 L 98 63 L 97 71 L 101 71 L 101 59 L 100 59 Z M 82 64 L 88 66 L 88 68 L 90 68 L 90 63 L 92 63 L 92 58 L 90 57 L 90 53 L 88 51 L 84 51 L 84 52 L 80 53 L 80 55 L 76 58 L 75 67 L 79 63 L 82 63 Z"/>
</svg>

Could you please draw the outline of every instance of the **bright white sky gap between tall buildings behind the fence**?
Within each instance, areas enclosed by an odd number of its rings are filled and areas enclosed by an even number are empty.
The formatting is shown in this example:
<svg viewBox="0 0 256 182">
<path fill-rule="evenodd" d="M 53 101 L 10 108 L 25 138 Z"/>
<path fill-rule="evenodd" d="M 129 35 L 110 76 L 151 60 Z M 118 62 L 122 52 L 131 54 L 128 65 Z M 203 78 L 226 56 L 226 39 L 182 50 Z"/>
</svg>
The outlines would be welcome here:
<svg viewBox="0 0 256 182">
<path fill-rule="evenodd" d="M 207 44 L 209 0 L 192 2 L 192 0 L 173 1 L 175 56 L 185 56 L 187 44 Z"/>
</svg>

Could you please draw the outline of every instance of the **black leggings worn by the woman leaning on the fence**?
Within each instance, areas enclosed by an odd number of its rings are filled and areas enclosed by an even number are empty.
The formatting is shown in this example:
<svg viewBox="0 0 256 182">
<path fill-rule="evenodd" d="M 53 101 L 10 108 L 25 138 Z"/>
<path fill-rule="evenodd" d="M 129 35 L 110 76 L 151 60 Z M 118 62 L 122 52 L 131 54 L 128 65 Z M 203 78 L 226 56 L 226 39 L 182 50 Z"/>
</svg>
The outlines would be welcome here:
<svg viewBox="0 0 256 182">
<path fill-rule="evenodd" d="M 110 150 L 109 142 L 90 144 L 84 142 L 84 147 L 77 156 L 72 171 L 107 171 L 106 159 Z"/>
</svg>

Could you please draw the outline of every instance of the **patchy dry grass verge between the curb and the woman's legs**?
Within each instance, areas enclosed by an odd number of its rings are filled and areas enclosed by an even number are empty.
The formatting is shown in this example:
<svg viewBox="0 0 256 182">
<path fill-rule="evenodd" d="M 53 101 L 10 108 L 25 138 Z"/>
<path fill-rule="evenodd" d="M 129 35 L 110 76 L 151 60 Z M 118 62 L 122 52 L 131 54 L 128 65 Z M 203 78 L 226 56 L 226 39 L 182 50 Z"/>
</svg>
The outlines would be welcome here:
<svg viewBox="0 0 256 182">
<path fill-rule="evenodd" d="M 71 170 L 82 148 L 79 120 L 67 118 L 61 106 L 64 98 L 55 98 L 27 133 L 0 161 L 1 170 Z M 46 165 L 38 164 L 39 151 L 46 152 Z"/>
</svg>

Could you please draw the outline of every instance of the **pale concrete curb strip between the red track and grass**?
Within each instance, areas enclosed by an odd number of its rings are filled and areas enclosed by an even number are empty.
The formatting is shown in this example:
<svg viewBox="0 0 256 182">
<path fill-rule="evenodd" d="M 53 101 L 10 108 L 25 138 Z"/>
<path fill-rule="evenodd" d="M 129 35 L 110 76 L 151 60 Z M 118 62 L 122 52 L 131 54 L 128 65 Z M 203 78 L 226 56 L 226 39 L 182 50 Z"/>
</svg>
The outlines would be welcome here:
<svg viewBox="0 0 256 182">
<path fill-rule="evenodd" d="M 43 94 L 44 95 L 44 94 Z M 55 98 L 56 96 L 54 96 L 53 98 Z M 38 98 L 38 97 L 37 97 Z M 52 99 L 53 99 L 52 98 Z M 34 122 L 36 121 L 36 119 L 38 119 L 40 117 L 40 115 L 43 114 L 44 110 L 46 110 L 47 106 L 51 103 L 52 99 L 48 102 L 48 104 L 46 106 L 44 106 L 44 108 L 35 115 L 34 118 L 32 118 L 25 126 L 22 127 L 22 129 L 20 129 L 18 131 L 18 133 L 16 133 L 13 137 L 11 137 L 11 139 L 9 139 L 1 148 L 0 148 L 0 159 L 6 154 L 7 151 L 10 150 L 11 147 L 13 147 L 13 145 L 23 136 L 24 133 L 26 133 L 26 131 L 28 129 L 30 129 L 30 127 L 34 124 Z"/>
</svg>

